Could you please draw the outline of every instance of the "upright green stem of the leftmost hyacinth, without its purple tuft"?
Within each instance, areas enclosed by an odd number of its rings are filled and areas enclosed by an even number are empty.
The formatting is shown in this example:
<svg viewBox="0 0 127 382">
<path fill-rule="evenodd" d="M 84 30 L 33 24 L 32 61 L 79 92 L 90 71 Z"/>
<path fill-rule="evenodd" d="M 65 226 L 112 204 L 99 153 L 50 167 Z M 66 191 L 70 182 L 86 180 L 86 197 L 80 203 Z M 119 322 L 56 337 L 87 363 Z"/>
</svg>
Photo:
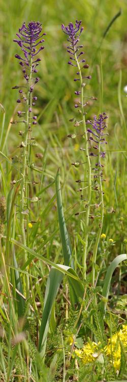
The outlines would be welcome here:
<svg viewBox="0 0 127 382">
<path fill-rule="evenodd" d="M 29 62 L 29 78 L 27 83 L 27 93 L 26 93 L 26 108 L 25 108 L 25 133 L 24 133 L 24 148 L 23 148 L 23 161 L 22 161 L 22 180 L 21 180 L 21 214 L 20 214 L 20 224 L 21 224 L 21 233 L 22 233 L 22 242 L 26 246 L 26 237 L 25 237 L 25 229 L 24 229 L 24 219 L 23 219 L 23 209 L 24 209 L 24 193 L 25 186 L 27 189 L 27 184 L 25 184 L 26 178 L 26 167 L 27 167 L 27 141 L 28 141 L 28 126 L 29 126 L 29 99 L 30 99 L 30 83 L 31 83 L 31 74 L 32 74 L 32 58 L 30 58 Z M 24 263 L 27 261 L 27 252 L 24 250 Z M 25 277 L 26 283 L 26 297 L 29 295 L 29 277 L 26 275 Z"/>
</svg>

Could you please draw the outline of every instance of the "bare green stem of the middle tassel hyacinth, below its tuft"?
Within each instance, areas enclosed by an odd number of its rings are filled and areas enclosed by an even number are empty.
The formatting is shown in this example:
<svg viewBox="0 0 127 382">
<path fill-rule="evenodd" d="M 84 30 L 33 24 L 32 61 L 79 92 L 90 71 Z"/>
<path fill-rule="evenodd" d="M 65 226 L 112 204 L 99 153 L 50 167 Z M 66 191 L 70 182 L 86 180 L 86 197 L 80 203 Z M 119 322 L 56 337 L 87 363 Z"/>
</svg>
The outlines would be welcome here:
<svg viewBox="0 0 127 382">
<path fill-rule="evenodd" d="M 74 46 L 75 51 L 75 46 Z M 83 120 L 83 128 L 84 128 L 84 139 L 85 139 L 85 153 L 86 153 L 86 162 L 87 162 L 87 169 L 88 169 L 88 197 L 87 197 L 87 206 L 86 206 L 86 213 L 85 213 L 85 246 L 84 246 L 84 253 L 83 253 L 83 279 L 86 279 L 86 257 L 87 257 L 87 247 L 88 247 L 88 227 L 89 227 L 89 210 L 90 210 L 90 201 L 91 201 L 91 163 L 88 153 L 88 139 L 87 139 L 87 130 L 86 130 L 86 123 L 85 123 L 85 113 L 84 113 L 84 86 L 83 86 L 83 80 L 82 80 L 82 73 L 81 68 L 77 59 L 76 52 L 74 54 L 78 71 L 79 71 L 79 77 L 80 77 L 80 86 L 81 86 L 81 114 L 82 114 L 82 120 Z"/>
</svg>

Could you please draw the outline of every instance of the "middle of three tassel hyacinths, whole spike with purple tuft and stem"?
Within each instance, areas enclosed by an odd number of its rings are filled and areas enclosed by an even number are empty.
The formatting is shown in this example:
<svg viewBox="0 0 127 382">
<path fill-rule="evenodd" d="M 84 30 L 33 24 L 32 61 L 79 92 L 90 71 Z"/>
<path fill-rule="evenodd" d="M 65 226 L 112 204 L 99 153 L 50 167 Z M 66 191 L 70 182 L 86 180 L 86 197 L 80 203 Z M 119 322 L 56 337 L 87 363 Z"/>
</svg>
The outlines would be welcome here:
<svg viewBox="0 0 127 382">
<path fill-rule="evenodd" d="M 84 237 L 84 253 L 83 253 L 83 278 L 86 278 L 86 257 L 87 257 L 87 247 L 88 247 L 88 226 L 89 226 L 89 208 L 90 208 L 90 201 L 91 201 L 91 164 L 90 164 L 90 157 L 88 153 L 88 137 L 87 137 L 87 129 L 86 129 L 86 122 L 85 122 L 85 107 L 87 106 L 88 102 L 84 102 L 84 87 L 85 84 L 83 83 L 84 78 L 90 79 L 91 76 L 88 75 L 82 75 L 82 70 L 87 69 L 89 67 L 88 64 L 85 64 L 85 59 L 82 58 L 84 51 L 82 51 L 83 45 L 80 44 L 80 35 L 83 31 L 83 27 L 81 26 L 81 20 L 76 20 L 75 26 L 72 22 L 69 23 L 68 26 L 61 25 L 62 31 L 67 35 L 69 42 L 69 45 L 67 47 L 67 51 L 70 54 L 70 60 L 68 62 L 69 65 L 72 65 L 76 67 L 76 78 L 74 78 L 74 81 L 78 81 L 80 84 L 80 89 L 78 91 L 75 91 L 75 94 L 77 96 L 80 96 L 80 100 L 78 103 L 75 104 L 75 108 L 80 109 L 81 113 L 81 121 L 78 122 L 78 124 L 83 124 L 83 135 L 84 135 L 84 141 L 85 141 L 85 160 L 86 160 L 86 166 L 87 166 L 87 174 L 88 174 L 88 194 L 87 194 L 87 207 L 86 207 L 86 213 L 85 213 L 85 237 Z M 94 98 L 94 97 L 93 97 Z M 94 98 L 96 99 L 96 98 Z"/>
</svg>

